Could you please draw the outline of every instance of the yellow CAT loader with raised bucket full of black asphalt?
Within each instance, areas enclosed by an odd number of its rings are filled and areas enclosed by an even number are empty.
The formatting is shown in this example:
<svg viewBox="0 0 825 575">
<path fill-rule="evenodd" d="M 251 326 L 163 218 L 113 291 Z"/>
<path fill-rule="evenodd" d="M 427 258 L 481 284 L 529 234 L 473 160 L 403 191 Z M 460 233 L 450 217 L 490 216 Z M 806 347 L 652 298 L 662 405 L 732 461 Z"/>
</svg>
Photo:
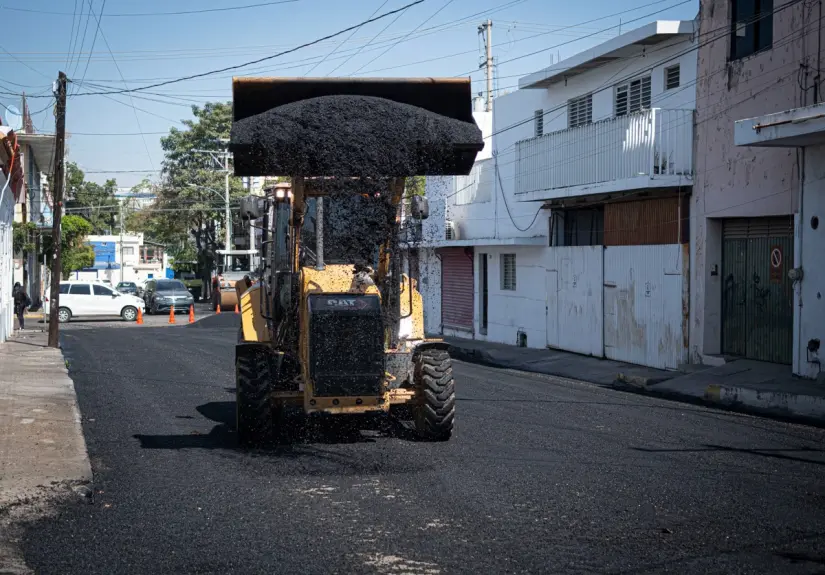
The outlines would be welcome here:
<svg viewBox="0 0 825 575">
<path fill-rule="evenodd" d="M 424 124 L 446 140 L 453 132 L 439 131 L 439 122 L 473 129 L 453 136 L 456 141 L 428 144 L 422 136 L 411 146 L 387 136 L 379 138 L 381 149 L 361 150 L 375 134 L 359 130 L 380 130 L 385 120 L 397 119 L 367 117 L 349 122 L 351 132 L 335 134 L 350 146 L 343 162 L 327 146 L 297 150 L 294 138 L 266 144 L 261 114 L 330 97 L 371 98 L 384 106 L 376 107 L 382 113 L 420 110 Z M 317 142 L 323 134 L 308 131 L 324 123 L 303 116 L 281 128 L 294 125 Z M 241 216 L 261 229 L 262 241 L 260 269 L 236 283 L 239 442 L 271 437 L 287 408 L 336 417 L 393 412 L 411 419 L 422 438 L 448 440 L 455 421 L 448 346 L 424 334 L 422 297 L 403 273 L 399 236 L 402 206 L 413 219 L 429 214 L 425 197 L 405 198 L 406 178 L 467 175 L 484 146 L 469 79 L 234 78 L 229 146 L 236 176 L 282 180 L 266 197 L 241 201 Z M 378 160 L 378 167 L 371 165 L 392 146 L 408 148 L 409 156 L 391 168 Z"/>
</svg>

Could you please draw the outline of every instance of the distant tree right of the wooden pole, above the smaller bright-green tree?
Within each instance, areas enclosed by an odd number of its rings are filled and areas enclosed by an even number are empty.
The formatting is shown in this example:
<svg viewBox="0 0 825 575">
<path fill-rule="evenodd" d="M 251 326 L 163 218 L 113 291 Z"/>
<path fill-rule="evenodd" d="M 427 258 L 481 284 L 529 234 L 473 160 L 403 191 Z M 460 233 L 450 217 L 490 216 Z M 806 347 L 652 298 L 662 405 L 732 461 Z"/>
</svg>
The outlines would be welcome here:
<svg viewBox="0 0 825 575">
<path fill-rule="evenodd" d="M 115 229 L 118 200 L 115 197 L 117 181 L 106 180 L 102 186 L 85 180 L 83 170 L 70 162 L 66 166 L 66 183 L 69 200 L 66 208 L 82 215 L 92 224 L 93 234 L 111 234 Z"/>
</svg>

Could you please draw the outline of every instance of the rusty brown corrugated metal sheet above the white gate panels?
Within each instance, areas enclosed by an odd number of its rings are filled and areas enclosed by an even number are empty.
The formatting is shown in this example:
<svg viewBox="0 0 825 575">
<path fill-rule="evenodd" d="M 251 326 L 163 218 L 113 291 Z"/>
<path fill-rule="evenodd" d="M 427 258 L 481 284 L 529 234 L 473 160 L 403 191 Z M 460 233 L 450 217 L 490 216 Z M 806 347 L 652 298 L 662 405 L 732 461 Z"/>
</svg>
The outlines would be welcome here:
<svg viewBox="0 0 825 575">
<path fill-rule="evenodd" d="M 681 196 L 686 198 L 687 195 Z M 687 202 L 680 197 L 615 202 L 604 207 L 604 245 L 641 246 L 687 241 Z"/>
</svg>

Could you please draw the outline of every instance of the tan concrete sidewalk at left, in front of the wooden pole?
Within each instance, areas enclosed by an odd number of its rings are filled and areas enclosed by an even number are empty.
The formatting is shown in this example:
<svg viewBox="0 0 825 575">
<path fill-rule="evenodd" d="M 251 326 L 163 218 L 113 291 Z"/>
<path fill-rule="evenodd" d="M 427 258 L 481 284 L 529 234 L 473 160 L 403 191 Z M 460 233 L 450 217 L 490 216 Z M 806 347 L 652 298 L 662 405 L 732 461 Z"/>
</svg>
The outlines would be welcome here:
<svg viewBox="0 0 825 575">
<path fill-rule="evenodd" d="M 0 344 L 0 510 L 92 478 L 63 354 L 42 326 L 27 327 Z"/>
</svg>

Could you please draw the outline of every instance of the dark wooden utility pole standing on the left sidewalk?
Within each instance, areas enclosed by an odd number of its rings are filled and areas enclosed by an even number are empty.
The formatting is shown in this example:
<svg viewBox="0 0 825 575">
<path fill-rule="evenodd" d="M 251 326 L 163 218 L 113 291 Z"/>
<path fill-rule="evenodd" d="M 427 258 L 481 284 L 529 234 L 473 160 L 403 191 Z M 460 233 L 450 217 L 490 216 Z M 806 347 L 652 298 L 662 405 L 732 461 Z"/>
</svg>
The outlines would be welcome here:
<svg viewBox="0 0 825 575">
<path fill-rule="evenodd" d="M 63 216 L 63 188 L 66 185 L 64 158 L 66 151 L 66 74 L 60 72 L 57 76 L 57 110 L 55 113 L 55 142 L 54 142 L 54 190 L 52 199 L 52 272 L 51 293 L 49 294 L 49 347 L 60 347 L 57 313 L 60 309 L 60 280 L 63 277 L 60 261 L 60 220 Z"/>
</svg>

